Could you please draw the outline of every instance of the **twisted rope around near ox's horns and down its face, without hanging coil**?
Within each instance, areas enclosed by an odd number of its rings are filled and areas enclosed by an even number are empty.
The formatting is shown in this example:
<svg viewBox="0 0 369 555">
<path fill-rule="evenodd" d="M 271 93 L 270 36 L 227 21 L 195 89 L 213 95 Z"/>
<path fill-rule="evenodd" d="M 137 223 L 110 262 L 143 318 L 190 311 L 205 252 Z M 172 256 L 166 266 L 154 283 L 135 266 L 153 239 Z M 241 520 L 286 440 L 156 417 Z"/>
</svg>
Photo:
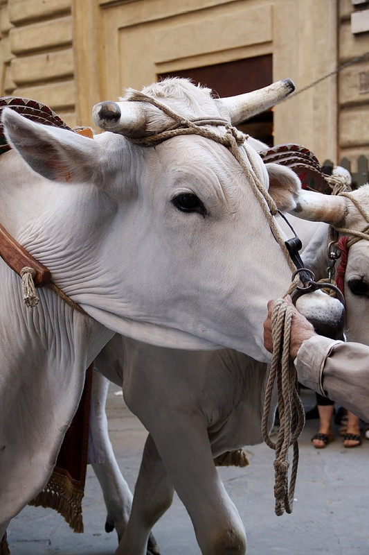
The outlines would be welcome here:
<svg viewBox="0 0 369 555">
<path fill-rule="evenodd" d="M 166 141 L 167 139 L 171 139 L 172 137 L 178 137 L 179 135 L 199 135 L 228 148 L 242 167 L 242 170 L 251 185 L 253 193 L 256 198 L 258 198 L 262 211 L 264 212 L 264 215 L 269 223 L 269 227 L 271 228 L 271 231 L 273 232 L 273 235 L 280 245 L 283 253 L 285 253 L 285 257 L 291 271 L 294 272 L 296 270 L 296 266 L 291 260 L 285 241 L 282 238 L 278 225 L 273 217 L 278 214 L 276 203 L 269 195 L 267 189 L 265 189 L 262 182 L 262 176 L 260 175 L 258 169 L 256 169 L 255 164 L 253 163 L 253 160 L 246 148 L 244 148 L 244 141 L 247 138 L 247 135 L 244 135 L 244 133 L 241 133 L 237 128 L 231 126 L 229 121 L 226 119 L 204 117 L 190 120 L 182 117 L 165 104 L 162 104 L 152 98 L 152 96 L 149 96 L 141 91 L 134 91 L 128 101 L 150 103 L 167 114 L 175 122 L 169 128 L 159 131 L 158 133 L 154 133 L 153 135 L 145 137 L 126 137 L 134 144 L 140 144 L 141 146 L 155 146 L 156 144 Z M 226 128 L 226 133 L 219 133 L 219 130 L 212 130 L 211 127 L 224 127 Z"/>
</svg>

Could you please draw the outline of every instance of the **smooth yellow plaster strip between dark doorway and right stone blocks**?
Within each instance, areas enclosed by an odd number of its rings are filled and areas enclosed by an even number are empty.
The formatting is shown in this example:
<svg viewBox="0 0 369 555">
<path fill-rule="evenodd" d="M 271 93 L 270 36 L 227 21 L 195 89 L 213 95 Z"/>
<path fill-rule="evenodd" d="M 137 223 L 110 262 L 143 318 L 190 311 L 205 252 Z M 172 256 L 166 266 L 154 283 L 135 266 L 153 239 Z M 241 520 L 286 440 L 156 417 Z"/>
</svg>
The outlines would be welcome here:
<svg viewBox="0 0 369 555">
<path fill-rule="evenodd" d="M 296 84 L 296 95 L 276 108 L 278 135 L 318 160 L 336 160 L 336 76 L 305 89 L 336 69 L 336 2 L 276 0 L 275 15 L 273 78 Z"/>
</svg>

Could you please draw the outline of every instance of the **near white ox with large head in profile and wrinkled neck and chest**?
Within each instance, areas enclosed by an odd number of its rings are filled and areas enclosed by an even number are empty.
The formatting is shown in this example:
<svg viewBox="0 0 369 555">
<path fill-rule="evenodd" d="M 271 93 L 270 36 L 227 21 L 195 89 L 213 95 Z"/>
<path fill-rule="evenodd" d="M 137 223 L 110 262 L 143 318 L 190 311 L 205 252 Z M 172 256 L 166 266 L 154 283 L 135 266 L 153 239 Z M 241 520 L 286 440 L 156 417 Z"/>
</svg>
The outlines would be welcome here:
<svg viewBox="0 0 369 555">
<path fill-rule="evenodd" d="M 185 117 L 244 119 L 244 99 L 222 103 L 188 83 L 152 94 Z M 240 147 L 246 177 L 227 148 L 204 137 L 155 148 L 111 133 L 91 141 L 11 110 L 3 125 L 13 150 L 0 158 L 0 221 L 87 314 L 48 287 L 35 309 L 24 307 L 19 278 L 1 263 L 0 537 L 46 483 L 84 370 L 114 332 L 268 359 L 265 305 L 291 278 L 249 187 L 250 176 L 269 185 L 251 146 Z M 274 185 L 298 194 L 293 173 L 270 168 Z"/>
</svg>

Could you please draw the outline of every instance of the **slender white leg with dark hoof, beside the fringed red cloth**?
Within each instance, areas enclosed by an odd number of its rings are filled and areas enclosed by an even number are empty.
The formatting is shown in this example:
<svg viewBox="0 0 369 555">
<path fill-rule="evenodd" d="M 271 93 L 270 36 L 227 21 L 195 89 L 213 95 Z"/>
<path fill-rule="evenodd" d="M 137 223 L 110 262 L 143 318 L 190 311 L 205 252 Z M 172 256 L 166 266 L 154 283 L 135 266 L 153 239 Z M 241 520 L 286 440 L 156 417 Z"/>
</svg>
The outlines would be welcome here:
<svg viewBox="0 0 369 555">
<path fill-rule="evenodd" d="M 111 532 L 116 529 L 118 540 L 123 536 L 129 520 L 132 506 L 132 492 L 123 478 L 111 441 L 109 439 L 108 422 L 105 413 L 109 381 L 98 372 L 93 373 L 93 425 L 90 427 L 91 443 L 96 445 L 102 453 L 102 463 L 92 463 L 93 470 L 100 482 L 105 505 L 107 506 L 107 521 L 105 530 Z"/>
</svg>

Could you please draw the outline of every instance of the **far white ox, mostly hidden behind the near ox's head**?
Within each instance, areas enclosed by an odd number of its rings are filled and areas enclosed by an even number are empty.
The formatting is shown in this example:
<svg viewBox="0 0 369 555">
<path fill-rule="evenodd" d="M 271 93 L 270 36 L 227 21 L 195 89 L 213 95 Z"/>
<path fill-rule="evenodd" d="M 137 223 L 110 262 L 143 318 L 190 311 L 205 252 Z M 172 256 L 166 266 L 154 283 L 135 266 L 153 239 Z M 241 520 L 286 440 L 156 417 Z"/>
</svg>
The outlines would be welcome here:
<svg viewBox="0 0 369 555">
<path fill-rule="evenodd" d="M 364 210 L 369 209 L 369 185 L 352 196 Z M 344 197 L 304 192 L 297 212 L 303 218 L 354 231 L 368 225 L 351 200 Z M 307 267 L 314 270 L 317 279 L 327 278 L 330 225 L 303 222 L 293 216 L 289 220 L 305 239 L 303 259 Z M 367 241 L 353 245 L 345 275 L 350 339 L 366 344 L 368 303 L 362 296 L 366 295 L 368 255 Z M 350 325 L 357 321 L 358 281 L 360 314 L 365 314 L 359 330 Z M 308 296 L 300 299 L 300 305 L 306 302 Z M 127 405 L 150 432 L 128 524 L 131 497 L 112 486 L 117 483 L 115 472 L 106 469 L 108 520 L 118 524 L 119 537 L 127 525 L 116 553 L 145 554 L 150 530 L 170 506 L 174 489 L 190 514 L 201 552 L 224 554 L 232 548 L 243 553 L 244 527 L 219 481 L 213 458 L 262 441 L 260 421 L 267 364 L 230 349 L 163 349 L 115 336 L 97 357 L 96 368 L 116 384 L 123 383 Z M 348 408 L 355 409 L 349 402 Z M 118 497 L 122 500 L 120 508 Z"/>
</svg>

